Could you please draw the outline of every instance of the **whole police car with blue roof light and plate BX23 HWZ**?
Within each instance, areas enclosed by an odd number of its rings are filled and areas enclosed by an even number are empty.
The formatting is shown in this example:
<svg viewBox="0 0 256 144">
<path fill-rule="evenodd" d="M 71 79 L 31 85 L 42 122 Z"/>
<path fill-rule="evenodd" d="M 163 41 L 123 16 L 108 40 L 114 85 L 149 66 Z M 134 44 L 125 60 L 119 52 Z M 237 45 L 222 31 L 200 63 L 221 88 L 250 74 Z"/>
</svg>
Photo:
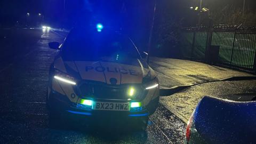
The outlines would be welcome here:
<svg viewBox="0 0 256 144">
<path fill-rule="evenodd" d="M 60 114 L 109 117 L 146 128 L 158 106 L 158 79 L 147 53 L 129 37 L 97 25 L 75 28 L 49 47 L 59 50 L 49 72 L 50 120 Z"/>
</svg>

